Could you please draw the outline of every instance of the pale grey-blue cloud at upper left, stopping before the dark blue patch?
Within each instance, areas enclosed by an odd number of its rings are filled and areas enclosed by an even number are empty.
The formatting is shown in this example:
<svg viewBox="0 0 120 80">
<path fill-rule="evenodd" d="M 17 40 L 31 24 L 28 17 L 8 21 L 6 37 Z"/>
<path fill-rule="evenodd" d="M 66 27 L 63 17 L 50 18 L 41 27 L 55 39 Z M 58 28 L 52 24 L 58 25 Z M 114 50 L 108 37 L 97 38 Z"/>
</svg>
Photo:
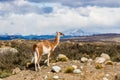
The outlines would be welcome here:
<svg viewBox="0 0 120 80">
<path fill-rule="evenodd" d="M 7 2 L 7 3 L 0 3 L 0 15 L 8 15 L 10 13 L 15 14 L 26 14 L 31 12 L 40 13 L 41 10 L 37 6 L 33 6 L 30 4 L 22 4 L 18 5 L 16 2 Z"/>
</svg>

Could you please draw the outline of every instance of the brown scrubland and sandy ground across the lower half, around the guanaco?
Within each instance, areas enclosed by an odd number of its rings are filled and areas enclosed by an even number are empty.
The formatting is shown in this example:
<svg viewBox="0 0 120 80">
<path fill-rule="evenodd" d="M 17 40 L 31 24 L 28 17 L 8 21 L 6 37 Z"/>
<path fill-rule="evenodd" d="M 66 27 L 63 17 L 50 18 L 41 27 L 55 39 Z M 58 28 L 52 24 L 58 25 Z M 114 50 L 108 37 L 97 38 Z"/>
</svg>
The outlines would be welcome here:
<svg viewBox="0 0 120 80">
<path fill-rule="evenodd" d="M 34 64 L 28 65 L 33 57 L 32 45 L 39 40 L 8 40 L 0 41 L 0 78 L 3 80 L 120 80 L 120 43 L 108 41 L 61 41 L 52 54 L 50 67 L 46 66 L 44 56 L 41 60 L 41 71 L 34 71 Z M 8 48 L 8 49 L 6 49 Z M 11 48 L 14 49 L 11 51 Z M 17 50 L 17 51 L 16 51 Z M 110 64 L 96 64 L 94 60 L 102 53 L 110 56 Z M 64 54 L 66 61 L 57 61 L 57 56 Z M 81 62 L 81 58 L 92 59 L 92 62 Z M 51 71 L 52 66 L 62 68 L 59 73 Z M 65 69 L 76 65 L 81 73 L 65 73 Z M 101 66 L 96 68 L 96 66 Z M 19 68 L 18 73 L 13 70 Z"/>
</svg>

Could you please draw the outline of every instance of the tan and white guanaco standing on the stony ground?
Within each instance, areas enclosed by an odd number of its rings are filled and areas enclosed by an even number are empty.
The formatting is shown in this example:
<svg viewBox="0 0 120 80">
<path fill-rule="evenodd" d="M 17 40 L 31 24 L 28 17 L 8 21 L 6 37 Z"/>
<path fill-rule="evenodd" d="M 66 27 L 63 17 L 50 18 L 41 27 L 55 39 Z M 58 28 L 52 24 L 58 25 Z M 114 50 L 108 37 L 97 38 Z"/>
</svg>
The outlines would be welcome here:
<svg viewBox="0 0 120 80">
<path fill-rule="evenodd" d="M 38 54 L 38 59 L 37 59 L 37 63 L 35 63 L 36 71 L 38 70 L 36 68 L 36 65 L 38 65 L 38 67 L 39 67 L 39 62 L 40 62 L 40 60 L 42 58 L 42 55 L 44 55 L 45 50 L 46 50 L 46 52 L 48 52 L 47 53 L 48 54 L 47 65 L 49 66 L 49 58 L 50 58 L 50 56 L 52 54 L 52 51 L 54 51 L 54 49 L 59 44 L 59 40 L 60 40 L 61 35 L 64 35 L 64 34 L 62 34 L 61 32 L 57 32 L 56 38 L 54 39 L 53 42 L 48 41 L 48 40 L 42 40 L 41 42 L 33 45 L 34 55 L 35 55 L 35 52 L 37 52 L 37 49 L 38 49 L 38 53 L 37 53 Z"/>
</svg>

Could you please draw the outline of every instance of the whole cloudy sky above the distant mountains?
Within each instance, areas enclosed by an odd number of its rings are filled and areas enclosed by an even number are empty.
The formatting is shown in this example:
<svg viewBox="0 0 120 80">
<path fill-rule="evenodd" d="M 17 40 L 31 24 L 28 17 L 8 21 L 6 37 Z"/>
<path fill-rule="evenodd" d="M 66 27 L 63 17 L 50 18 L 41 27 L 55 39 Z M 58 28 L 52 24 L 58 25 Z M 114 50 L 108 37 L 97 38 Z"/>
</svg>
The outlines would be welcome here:
<svg viewBox="0 0 120 80">
<path fill-rule="evenodd" d="M 0 0 L 0 34 L 120 33 L 119 0 Z"/>
</svg>

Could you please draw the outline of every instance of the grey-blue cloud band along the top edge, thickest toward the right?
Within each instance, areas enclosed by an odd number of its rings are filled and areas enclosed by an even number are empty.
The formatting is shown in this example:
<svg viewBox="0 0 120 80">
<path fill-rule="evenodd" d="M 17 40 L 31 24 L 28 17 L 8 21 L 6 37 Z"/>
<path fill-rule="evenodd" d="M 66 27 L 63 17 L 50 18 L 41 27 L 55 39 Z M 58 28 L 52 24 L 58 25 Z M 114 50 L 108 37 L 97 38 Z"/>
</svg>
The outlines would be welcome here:
<svg viewBox="0 0 120 80">
<path fill-rule="evenodd" d="M 119 0 L 27 0 L 30 2 L 42 3 L 61 3 L 71 7 L 79 6 L 101 6 L 101 7 L 120 7 Z"/>
</svg>

